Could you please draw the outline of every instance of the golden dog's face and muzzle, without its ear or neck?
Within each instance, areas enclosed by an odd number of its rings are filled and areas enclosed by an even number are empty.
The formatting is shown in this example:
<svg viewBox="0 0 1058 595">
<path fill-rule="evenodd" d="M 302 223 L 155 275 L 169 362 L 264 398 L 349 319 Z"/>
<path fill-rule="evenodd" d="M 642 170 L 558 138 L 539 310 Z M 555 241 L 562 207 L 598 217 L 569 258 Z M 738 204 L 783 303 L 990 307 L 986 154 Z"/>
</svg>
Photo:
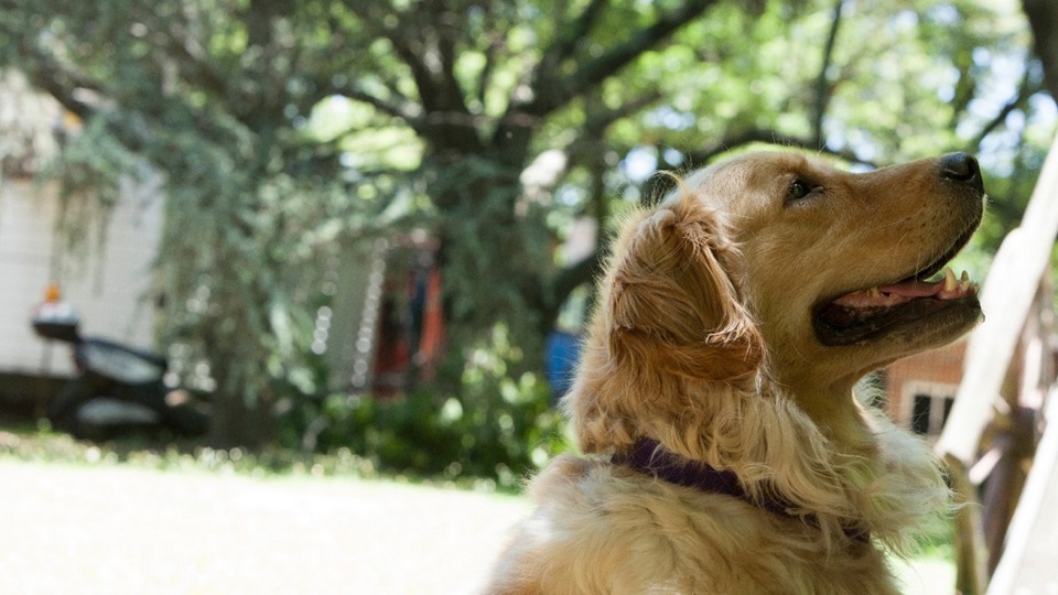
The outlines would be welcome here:
<svg viewBox="0 0 1058 595">
<path fill-rule="evenodd" d="M 976 161 L 956 153 L 853 174 L 762 153 L 688 181 L 731 218 L 746 293 L 780 381 L 857 380 L 981 317 L 964 274 L 930 281 L 981 221 Z"/>
</svg>

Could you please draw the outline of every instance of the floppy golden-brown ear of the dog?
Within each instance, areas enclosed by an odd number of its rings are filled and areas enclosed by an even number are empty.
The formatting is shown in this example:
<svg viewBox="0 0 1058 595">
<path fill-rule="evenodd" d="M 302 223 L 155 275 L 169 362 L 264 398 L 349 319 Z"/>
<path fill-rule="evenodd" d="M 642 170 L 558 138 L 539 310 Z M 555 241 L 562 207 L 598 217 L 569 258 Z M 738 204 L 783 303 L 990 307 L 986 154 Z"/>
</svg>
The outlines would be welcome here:
<svg viewBox="0 0 1058 595">
<path fill-rule="evenodd" d="M 722 381 L 757 368 L 763 340 L 727 270 L 720 215 L 687 190 L 622 237 L 609 282 L 609 355 L 637 369 Z"/>
</svg>

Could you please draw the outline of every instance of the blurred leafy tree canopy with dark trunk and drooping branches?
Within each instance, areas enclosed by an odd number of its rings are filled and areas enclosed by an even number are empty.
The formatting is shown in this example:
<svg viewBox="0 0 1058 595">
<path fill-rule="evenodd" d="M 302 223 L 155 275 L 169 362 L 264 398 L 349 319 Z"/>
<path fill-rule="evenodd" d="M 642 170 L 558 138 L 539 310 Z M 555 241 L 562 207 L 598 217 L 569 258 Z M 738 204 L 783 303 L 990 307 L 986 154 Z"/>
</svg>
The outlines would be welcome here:
<svg viewBox="0 0 1058 595">
<path fill-rule="evenodd" d="M 305 329 L 343 242 L 430 228 L 452 353 L 501 324 L 535 369 L 602 255 L 555 256 L 574 217 L 756 142 L 973 150 L 974 52 L 1016 55 L 1010 23 L 971 0 L 0 0 L 0 56 L 86 122 L 64 180 L 165 175 L 168 328 L 209 363 L 224 445 L 319 389 Z"/>
</svg>

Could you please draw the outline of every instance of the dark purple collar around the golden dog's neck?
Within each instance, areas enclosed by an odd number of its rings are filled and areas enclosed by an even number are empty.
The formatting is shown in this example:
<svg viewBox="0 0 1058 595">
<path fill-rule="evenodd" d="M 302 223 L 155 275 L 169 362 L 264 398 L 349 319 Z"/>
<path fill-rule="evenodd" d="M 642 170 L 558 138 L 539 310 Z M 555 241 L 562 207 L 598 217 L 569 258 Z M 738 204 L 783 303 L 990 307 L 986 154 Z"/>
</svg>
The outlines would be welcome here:
<svg viewBox="0 0 1058 595">
<path fill-rule="evenodd" d="M 700 461 L 683 458 L 666 451 L 657 441 L 647 437 L 637 440 L 630 451 L 615 454 L 611 461 L 615 465 L 623 465 L 639 473 L 652 475 L 670 484 L 709 494 L 731 496 L 780 517 L 798 518 L 790 512 L 794 505 L 789 501 L 778 497 L 768 497 L 763 500 L 754 499 L 746 494 L 742 484 L 738 483 L 738 476 L 734 473 L 716 469 Z M 807 520 L 810 524 L 817 524 L 814 517 L 809 517 Z M 870 541 L 870 534 L 861 530 L 846 528 L 845 534 L 856 541 Z"/>
</svg>

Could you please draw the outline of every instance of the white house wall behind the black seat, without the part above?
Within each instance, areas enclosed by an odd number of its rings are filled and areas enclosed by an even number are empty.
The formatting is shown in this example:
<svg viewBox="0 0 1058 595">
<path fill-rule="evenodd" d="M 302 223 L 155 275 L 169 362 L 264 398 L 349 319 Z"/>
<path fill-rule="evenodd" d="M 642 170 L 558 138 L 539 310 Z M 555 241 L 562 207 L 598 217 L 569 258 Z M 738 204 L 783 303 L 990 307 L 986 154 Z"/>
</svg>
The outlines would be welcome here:
<svg viewBox="0 0 1058 595">
<path fill-rule="evenodd" d="M 161 237 L 162 205 L 156 186 L 127 184 L 100 246 L 66 255 L 55 235 L 58 199 L 53 186 L 0 181 L 0 371 L 68 376 L 65 344 L 39 338 L 30 326 L 33 307 L 50 281 L 80 315 L 82 334 L 138 347 L 154 347 L 151 266 Z"/>
</svg>

